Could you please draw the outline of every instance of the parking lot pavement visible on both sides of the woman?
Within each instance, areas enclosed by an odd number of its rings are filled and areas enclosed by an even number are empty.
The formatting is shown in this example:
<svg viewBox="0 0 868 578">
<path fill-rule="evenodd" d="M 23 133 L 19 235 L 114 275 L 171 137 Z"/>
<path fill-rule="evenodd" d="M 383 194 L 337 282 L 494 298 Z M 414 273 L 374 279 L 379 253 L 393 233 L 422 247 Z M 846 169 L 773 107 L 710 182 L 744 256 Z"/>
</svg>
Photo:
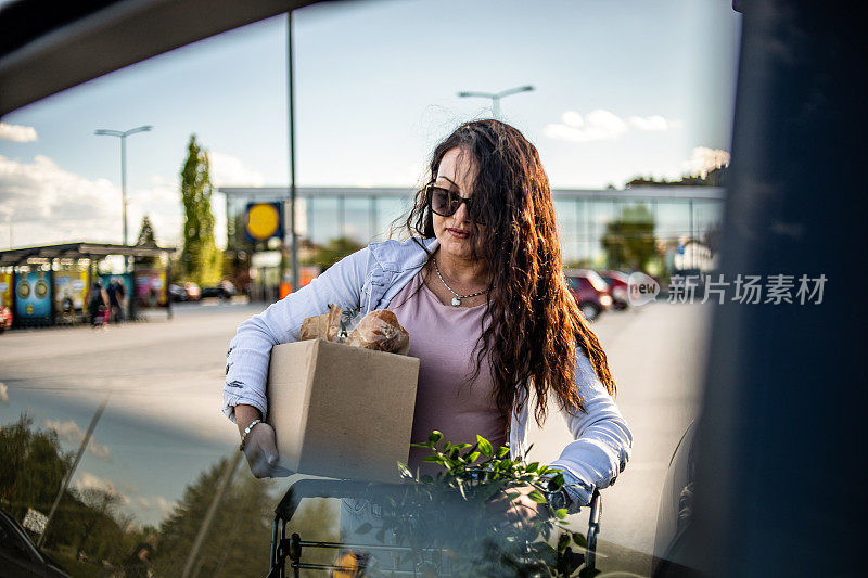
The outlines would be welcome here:
<svg viewBox="0 0 868 578">
<path fill-rule="evenodd" d="M 237 433 L 219 412 L 226 348 L 238 323 L 259 310 L 256 305 L 194 304 L 178 307 L 171 321 L 154 317 L 105 331 L 7 333 L 0 336 L 0 423 L 27 411 L 38 423 L 72 420 L 85 429 L 93 408 L 112 391 L 94 440 L 113 458 L 88 455 L 81 468 L 116 487 L 137 487 L 141 503 L 156 497 L 170 503 L 215 455 L 237 442 Z M 611 312 L 592 325 L 635 435 L 627 470 L 603 493 L 601 538 L 608 542 L 651 552 L 663 476 L 697 414 L 710 312 L 700 305 L 652 304 Z M 570 441 L 557 414 L 542 429 L 534 427 L 531 438 L 532 457 L 544 462 L 556 459 Z M 178 449 L 175 462 L 163 458 L 166 447 Z M 157 479 L 148 455 L 169 468 L 165 479 Z M 142 479 L 149 477 L 153 488 L 142 489 Z M 155 506 L 138 513 L 156 523 L 165 511 Z"/>
</svg>

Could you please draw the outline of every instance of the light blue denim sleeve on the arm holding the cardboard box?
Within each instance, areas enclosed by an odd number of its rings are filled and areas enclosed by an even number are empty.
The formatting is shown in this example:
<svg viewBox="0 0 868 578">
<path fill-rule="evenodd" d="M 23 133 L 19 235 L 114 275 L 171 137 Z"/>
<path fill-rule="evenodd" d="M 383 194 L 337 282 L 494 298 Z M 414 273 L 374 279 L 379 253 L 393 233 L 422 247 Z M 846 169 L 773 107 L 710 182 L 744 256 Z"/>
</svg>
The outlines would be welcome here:
<svg viewBox="0 0 868 578">
<path fill-rule="evenodd" d="M 319 277 L 272 304 L 265 311 L 242 322 L 229 344 L 224 385 L 224 413 L 234 421 L 235 406 L 253 406 L 268 411 L 266 381 L 271 348 L 298 341 L 304 320 L 329 311 L 329 305 L 357 309 L 361 301 L 367 271 L 372 259 L 369 248 L 344 257 Z"/>
</svg>

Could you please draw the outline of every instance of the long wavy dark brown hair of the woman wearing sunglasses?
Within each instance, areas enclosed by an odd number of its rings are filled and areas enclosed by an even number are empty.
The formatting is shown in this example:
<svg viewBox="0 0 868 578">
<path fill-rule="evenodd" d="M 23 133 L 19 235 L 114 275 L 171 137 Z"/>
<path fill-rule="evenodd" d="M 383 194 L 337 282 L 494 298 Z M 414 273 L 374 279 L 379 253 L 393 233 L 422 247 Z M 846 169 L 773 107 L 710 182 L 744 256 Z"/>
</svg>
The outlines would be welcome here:
<svg viewBox="0 0 868 578">
<path fill-rule="evenodd" d="M 585 411 L 574 386 L 578 348 L 614 396 L 605 352 L 567 291 L 551 188 L 536 147 L 499 120 L 464 123 L 434 149 L 431 181 L 444 155 L 456 147 L 476 163 L 473 210 L 486 226 L 476 229 L 475 257 L 485 259 L 492 271 L 470 380 L 478 376 L 487 355 L 497 408 L 505 414 L 520 411 L 533 384 L 534 414 L 541 424 L 550 394 L 563 408 Z M 404 227 L 417 240 L 435 236 L 424 189 Z"/>
</svg>

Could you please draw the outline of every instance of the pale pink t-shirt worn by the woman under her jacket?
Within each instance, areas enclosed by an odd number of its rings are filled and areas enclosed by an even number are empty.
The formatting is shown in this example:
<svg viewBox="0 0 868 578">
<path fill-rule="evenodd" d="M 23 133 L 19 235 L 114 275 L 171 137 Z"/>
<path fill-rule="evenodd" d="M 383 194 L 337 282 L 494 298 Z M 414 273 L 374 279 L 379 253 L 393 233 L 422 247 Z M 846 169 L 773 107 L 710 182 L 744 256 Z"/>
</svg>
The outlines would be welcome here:
<svg viewBox="0 0 868 578">
<path fill-rule="evenodd" d="M 492 398 L 487 358 L 476 380 L 469 382 L 486 307 L 442 304 L 422 282 L 421 272 L 390 303 L 387 309 L 410 333 L 409 355 L 420 359 L 412 441 L 426 441 L 432 431 L 439 429 L 452 444 L 475 444 L 476 434 L 495 448 L 506 444 L 507 415 Z M 411 470 L 430 453 L 425 448 L 410 448 Z"/>
</svg>

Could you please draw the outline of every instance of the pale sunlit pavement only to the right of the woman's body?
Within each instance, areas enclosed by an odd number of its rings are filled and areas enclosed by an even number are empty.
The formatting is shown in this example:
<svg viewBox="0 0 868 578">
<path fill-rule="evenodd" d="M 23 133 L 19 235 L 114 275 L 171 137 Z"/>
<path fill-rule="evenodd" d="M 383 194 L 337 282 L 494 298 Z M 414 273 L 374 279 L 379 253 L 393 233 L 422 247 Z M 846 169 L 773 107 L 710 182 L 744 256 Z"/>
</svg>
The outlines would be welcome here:
<svg viewBox="0 0 868 578">
<path fill-rule="evenodd" d="M 602 493 L 601 539 L 652 552 L 663 478 L 701 402 L 710 313 L 701 305 L 652 304 L 593 324 L 617 385 L 618 407 L 634 434 L 630 463 Z M 532 431 L 531 439 L 534 460 L 550 462 L 571 438 L 556 414 L 541 431 Z M 586 527 L 587 514 L 577 518 Z"/>
</svg>

